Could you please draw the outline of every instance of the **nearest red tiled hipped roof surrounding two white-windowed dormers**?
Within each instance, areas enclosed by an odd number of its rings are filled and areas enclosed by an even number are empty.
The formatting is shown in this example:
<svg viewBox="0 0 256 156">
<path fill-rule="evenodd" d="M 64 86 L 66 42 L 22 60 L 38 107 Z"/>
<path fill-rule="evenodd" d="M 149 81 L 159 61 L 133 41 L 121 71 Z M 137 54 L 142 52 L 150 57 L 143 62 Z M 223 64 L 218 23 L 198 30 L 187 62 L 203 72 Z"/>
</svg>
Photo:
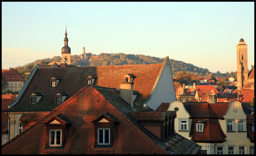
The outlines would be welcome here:
<svg viewBox="0 0 256 156">
<path fill-rule="evenodd" d="M 169 137 L 170 142 L 162 142 L 129 117 L 128 113 L 136 112 L 139 108 L 134 109 L 124 101 L 122 103 L 122 99 L 117 98 L 117 93 L 114 88 L 85 86 L 65 103 L 2 145 L 2 154 L 185 154 L 194 145 L 177 133 L 176 137 Z M 122 109 L 122 104 L 127 107 Z M 46 133 L 43 123 L 60 113 L 73 123 L 67 128 L 65 148 L 45 150 Z M 94 148 L 92 121 L 104 113 L 111 114 L 121 123 L 115 127 L 113 148 Z M 176 114 L 172 115 L 176 117 Z M 198 153 L 199 148 L 196 145 L 189 154 Z"/>
</svg>

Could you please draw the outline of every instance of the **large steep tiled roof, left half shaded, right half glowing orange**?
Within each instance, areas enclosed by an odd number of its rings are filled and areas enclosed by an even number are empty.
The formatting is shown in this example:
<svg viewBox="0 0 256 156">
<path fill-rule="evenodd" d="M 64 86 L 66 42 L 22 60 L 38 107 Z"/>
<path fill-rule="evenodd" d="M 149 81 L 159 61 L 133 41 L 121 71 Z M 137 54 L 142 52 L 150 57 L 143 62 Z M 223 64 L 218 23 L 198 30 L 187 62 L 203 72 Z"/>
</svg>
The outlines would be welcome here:
<svg viewBox="0 0 256 156">
<path fill-rule="evenodd" d="M 137 95 L 134 103 L 143 107 L 143 103 L 148 99 L 155 80 L 160 72 L 162 64 L 150 65 L 126 65 L 126 66 L 99 66 L 99 67 L 74 67 L 74 68 L 40 68 L 33 75 L 26 90 L 19 99 L 19 102 L 7 111 L 51 111 L 58 105 L 55 105 L 55 93 L 67 92 L 69 95 L 66 100 L 73 96 L 82 86 L 86 85 L 85 76 L 96 75 L 94 85 L 103 87 L 119 88 L 119 82 L 123 82 L 124 74 L 134 74 L 133 89 L 140 94 Z M 49 78 L 53 76 L 61 77 L 56 89 L 50 89 Z M 44 96 L 39 102 L 30 105 L 30 96 L 32 92 L 42 92 Z M 24 109 L 26 107 L 26 109 Z"/>
</svg>

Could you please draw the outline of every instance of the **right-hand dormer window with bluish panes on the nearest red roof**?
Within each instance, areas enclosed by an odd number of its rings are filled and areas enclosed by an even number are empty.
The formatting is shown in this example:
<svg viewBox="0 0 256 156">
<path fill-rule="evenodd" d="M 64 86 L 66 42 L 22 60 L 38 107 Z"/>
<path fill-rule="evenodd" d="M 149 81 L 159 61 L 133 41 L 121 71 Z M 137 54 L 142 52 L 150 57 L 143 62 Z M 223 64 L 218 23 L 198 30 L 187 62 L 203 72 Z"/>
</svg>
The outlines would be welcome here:
<svg viewBox="0 0 256 156">
<path fill-rule="evenodd" d="M 117 124 L 121 124 L 121 121 L 110 113 L 104 113 L 101 117 L 92 122 L 95 128 L 94 148 L 112 148 L 114 128 Z"/>
</svg>

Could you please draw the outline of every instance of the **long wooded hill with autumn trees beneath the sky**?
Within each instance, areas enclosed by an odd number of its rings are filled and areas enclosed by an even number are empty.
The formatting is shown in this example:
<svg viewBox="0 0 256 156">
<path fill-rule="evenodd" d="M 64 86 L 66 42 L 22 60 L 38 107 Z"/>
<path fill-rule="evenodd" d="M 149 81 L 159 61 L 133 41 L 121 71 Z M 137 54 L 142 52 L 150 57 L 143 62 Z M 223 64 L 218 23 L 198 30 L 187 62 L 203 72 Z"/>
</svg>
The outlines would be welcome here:
<svg viewBox="0 0 256 156">
<path fill-rule="evenodd" d="M 151 57 L 145 55 L 134 55 L 134 54 L 124 54 L 124 53 L 101 53 L 98 56 L 92 55 L 87 57 L 87 61 L 84 62 L 80 60 L 81 54 L 71 55 L 71 64 L 74 64 L 77 67 L 82 66 L 110 66 L 110 65 L 130 65 L 130 64 L 156 64 L 163 63 L 165 58 Z M 34 66 L 34 64 L 48 64 L 53 61 L 61 62 L 61 57 L 57 56 L 56 58 L 46 58 L 41 60 L 36 60 L 31 63 L 27 63 L 24 66 L 17 66 L 17 69 L 22 75 Z M 179 71 L 185 71 L 187 74 L 195 75 L 196 77 L 208 77 L 210 72 L 207 68 L 200 68 L 194 66 L 190 63 L 185 63 L 183 61 L 177 61 L 170 59 L 170 65 L 172 70 L 172 77 L 176 77 Z M 250 70 L 249 70 L 250 71 Z M 231 71 L 226 73 L 212 73 L 215 77 L 236 77 L 236 72 Z"/>
</svg>

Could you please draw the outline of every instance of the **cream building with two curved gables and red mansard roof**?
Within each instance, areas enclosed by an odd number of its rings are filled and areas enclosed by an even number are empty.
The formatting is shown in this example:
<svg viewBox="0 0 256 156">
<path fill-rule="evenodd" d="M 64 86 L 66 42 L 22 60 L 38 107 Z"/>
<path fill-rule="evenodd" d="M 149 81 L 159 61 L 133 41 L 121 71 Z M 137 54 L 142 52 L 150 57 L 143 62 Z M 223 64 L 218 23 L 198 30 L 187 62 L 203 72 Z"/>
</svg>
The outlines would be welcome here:
<svg viewBox="0 0 256 156">
<path fill-rule="evenodd" d="M 254 114 L 254 108 L 251 109 Z M 174 110 L 177 111 L 175 132 L 197 142 L 207 154 L 254 154 L 254 132 L 247 125 L 240 101 L 220 104 L 173 101 L 168 111 Z"/>
</svg>

